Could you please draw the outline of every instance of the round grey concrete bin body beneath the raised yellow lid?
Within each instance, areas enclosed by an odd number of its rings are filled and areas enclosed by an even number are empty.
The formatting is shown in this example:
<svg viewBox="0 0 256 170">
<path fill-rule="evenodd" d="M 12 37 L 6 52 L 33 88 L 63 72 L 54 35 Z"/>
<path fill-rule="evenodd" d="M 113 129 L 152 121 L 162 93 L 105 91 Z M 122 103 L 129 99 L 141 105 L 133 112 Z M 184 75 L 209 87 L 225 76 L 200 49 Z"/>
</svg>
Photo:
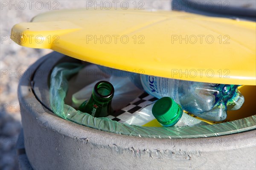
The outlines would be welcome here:
<svg viewBox="0 0 256 170">
<path fill-rule="evenodd" d="M 61 62 L 81 61 L 53 52 L 20 80 L 24 145 L 33 169 L 255 169 L 255 122 L 232 135 L 160 139 L 102 132 L 59 118 L 50 109 L 49 77 Z M 244 123 L 255 120 L 251 115 Z"/>
</svg>

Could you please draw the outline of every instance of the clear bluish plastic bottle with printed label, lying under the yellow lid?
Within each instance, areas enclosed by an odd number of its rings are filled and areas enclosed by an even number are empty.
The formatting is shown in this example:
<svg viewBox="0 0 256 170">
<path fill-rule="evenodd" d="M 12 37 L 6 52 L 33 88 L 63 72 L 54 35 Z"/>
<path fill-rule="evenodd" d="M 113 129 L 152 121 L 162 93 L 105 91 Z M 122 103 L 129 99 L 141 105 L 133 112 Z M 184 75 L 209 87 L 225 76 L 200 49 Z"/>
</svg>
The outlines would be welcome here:
<svg viewBox="0 0 256 170">
<path fill-rule="evenodd" d="M 227 110 L 239 109 L 244 103 L 244 97 L 237 89 L 239 85 L 182 81 L 149 75 L 141 75 L 140 80 L 148 94 L 157 98 L 171 97 L 184 110 L 210 121 L 225 120 Z M 139 80 L 136 81 L 138 84 Z"/>
</svg>

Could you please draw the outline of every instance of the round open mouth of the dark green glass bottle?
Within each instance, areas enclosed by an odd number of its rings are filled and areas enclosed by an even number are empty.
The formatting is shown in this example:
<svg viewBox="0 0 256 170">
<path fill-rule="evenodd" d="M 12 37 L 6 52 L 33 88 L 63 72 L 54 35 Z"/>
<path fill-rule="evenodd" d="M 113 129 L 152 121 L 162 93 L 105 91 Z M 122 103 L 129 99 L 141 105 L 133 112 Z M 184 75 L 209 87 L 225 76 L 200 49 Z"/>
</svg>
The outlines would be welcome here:
<svg viewBox="0 0 256 170">
<path fill-rule="evenodd" d="M 111 99 L 113 98 L 114 87 L 108 81 L 99 81 L 94 86 L 93 92 L 94 92 L 94 95 L 96 95 L 96 97 L 99 97 L 102 99 Z"/>
</svg>

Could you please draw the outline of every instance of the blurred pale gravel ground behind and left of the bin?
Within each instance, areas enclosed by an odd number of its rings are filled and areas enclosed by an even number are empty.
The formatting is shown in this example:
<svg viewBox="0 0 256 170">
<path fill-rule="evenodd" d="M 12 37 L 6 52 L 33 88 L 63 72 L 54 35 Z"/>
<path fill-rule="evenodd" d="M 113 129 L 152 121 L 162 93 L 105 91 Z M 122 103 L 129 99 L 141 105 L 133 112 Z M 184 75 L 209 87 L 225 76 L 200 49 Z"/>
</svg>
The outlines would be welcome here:
<svg viewBox="0 0 256 170">
<path fill-rule="evenodd" d="M 94 0 L 89 3 L 91 2 L 95 3 Z M 113 1 L 110 0 L 110 2 L 113 4 Z M 127 0 L 126 2 L 129 3 L 129 7 L 134 7 L 134 0 Z M 144 9 L 171 10 L 171 0 L 145 0 L 143 2 Z M 245 9 L 255 9 L 254 0 L 233 0 L 233 2 L 236 6 L 242 6 Z M 53 9 L 82 8 L 87 7 L 89 3 L 86 0 L 13 0 L 12 2 L 1 0 L 0 3 L 0 169 L 16 170 L 18 164 L 15 142 L 22 127 L 17 99 L 18 81 L 29 65 L 51 50 L 30 49 L 15 44 L 10 40 L 12 26 L 16 23 L 29 22 L 35 15 Z M 104 0 L 98 1 L 98 3 L 104 3 Z M 141 0 L 137 0 L 136 4 L 138 8 L 143 3 Z M 179 6 L 176 6 L 176 9 L 179 9 Z"/>
</svg>

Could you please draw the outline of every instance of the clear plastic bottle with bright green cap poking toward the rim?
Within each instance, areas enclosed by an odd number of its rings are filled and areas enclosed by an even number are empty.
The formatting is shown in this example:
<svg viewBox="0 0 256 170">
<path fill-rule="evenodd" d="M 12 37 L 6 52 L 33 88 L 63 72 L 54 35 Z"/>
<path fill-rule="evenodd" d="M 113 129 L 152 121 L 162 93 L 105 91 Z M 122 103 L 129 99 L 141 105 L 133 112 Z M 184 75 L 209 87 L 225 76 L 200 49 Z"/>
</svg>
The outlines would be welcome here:
<svg viewBox="0 0 256 170">
<path fill-rule="evenodd" d="M 208 123 L 183 113 L 182 108 L 170 97 L 160 98 L 152 107 L 152 114 L 163 127 L 208 125 Z"/>
</svg>

